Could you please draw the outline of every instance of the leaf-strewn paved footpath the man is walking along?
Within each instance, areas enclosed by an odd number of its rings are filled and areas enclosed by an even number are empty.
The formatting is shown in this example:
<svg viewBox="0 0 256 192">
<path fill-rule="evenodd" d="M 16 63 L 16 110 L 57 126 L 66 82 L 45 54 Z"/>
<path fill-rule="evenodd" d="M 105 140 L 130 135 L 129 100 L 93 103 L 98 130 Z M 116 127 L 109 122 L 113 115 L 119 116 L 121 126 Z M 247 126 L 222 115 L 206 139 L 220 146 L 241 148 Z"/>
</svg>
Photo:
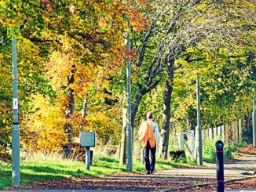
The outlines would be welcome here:
<svg viewBox="0 0 256 192">
<path fill-rule="evenodd" d="M 256 156 L 246 155 L 235 161 L 225 164 L 225 181 L 240 180 L 256 177 L 248 175 L 247 172 L 256 172 Z M 216 165 L 206 164 L 196 168 L 174 168 L 155 172 L 152 175 L 141 173 L 126 173 L 104 178 L 76 178 L 65 181 L 40 184 L 40 188 L 32 187 L 26 190 L 0 190 L 0 191 L 46 191 L 46 192 L 82 192 L 82 191 L 195 191 L 187 190 L 188 187 L 196 185 L 203 186 L 209 183 L 216 183 Z M 246 188 L 227 191 L 256 191 L 256 183 L 252 183 L 253 189 Z M 61 186 L 61 188 L 60 188 Z M 71 189 L 72 186 L 73 189 Z M 239 187 L 239 185 L 238 185 Z M 42 190 L 44 189 L 44 190 Z M 216 188 L 205 191 L 214 191 Z"/>
</svg>

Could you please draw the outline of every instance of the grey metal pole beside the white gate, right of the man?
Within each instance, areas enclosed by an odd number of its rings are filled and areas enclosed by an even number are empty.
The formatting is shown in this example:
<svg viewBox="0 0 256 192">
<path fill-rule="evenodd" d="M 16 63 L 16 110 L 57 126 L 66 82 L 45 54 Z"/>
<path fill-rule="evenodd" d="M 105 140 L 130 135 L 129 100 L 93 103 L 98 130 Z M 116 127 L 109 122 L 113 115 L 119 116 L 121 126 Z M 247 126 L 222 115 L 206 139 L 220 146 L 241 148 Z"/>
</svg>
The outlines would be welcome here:
<svg viewBox="0 0 256 192">
<path fill-rule="evenodd" d="M 200 89 L 199 89 L 199 75 L 196 75 L 196 102 L 197 102 L 197 165 L 203 165 L 203 147 L 202 147 L 202 128 L 200 116 Z"/>
</svg>

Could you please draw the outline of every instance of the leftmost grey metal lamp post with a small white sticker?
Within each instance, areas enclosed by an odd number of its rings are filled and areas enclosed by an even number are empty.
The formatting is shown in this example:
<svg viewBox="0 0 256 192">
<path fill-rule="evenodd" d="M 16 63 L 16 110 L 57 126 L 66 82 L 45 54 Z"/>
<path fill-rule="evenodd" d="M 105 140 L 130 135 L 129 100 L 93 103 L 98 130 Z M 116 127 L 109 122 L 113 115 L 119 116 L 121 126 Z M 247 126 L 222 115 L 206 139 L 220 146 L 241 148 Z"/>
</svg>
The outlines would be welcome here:
<svg viewBox="0 0 256 192">
<path fill-rule="evenodd" d="M 12 39 L 13 57 L 13 129 L 12 129 L 12 154 L 13 154 L 13 185 L 20 185 L 20 126 L 18 121 L 18 74 L 16 58 L 16 40 Z"/>
</svg>

